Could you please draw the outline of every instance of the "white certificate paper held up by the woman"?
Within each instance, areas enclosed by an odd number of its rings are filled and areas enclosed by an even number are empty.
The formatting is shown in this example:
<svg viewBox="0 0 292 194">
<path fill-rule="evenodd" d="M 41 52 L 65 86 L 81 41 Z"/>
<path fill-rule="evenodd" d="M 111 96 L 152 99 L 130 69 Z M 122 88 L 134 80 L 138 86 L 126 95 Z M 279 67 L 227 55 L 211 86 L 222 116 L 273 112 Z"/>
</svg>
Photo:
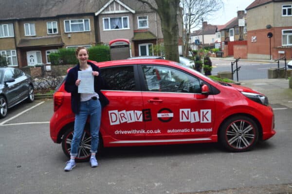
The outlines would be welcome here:
<svg viewBox="0 0 292 194">
<path fill-rule="evenodd" d="M 94 77 L 92 71 L 78 71 L 78 93 L 94 93 Z"/>
</svg>

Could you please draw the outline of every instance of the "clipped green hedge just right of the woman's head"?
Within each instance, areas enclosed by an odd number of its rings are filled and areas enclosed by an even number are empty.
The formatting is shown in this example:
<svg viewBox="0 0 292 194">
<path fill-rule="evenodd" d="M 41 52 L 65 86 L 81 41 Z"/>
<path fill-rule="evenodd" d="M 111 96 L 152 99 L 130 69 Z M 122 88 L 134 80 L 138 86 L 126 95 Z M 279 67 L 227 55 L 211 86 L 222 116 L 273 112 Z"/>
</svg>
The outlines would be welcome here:
<svg viewBox="0 0 292 194">
<path fill-rule="evenodd" d="M 96 62 L 110 61 L 110 48 L 98 45 L 88 49 L 89 59 Z"/>
</svg>

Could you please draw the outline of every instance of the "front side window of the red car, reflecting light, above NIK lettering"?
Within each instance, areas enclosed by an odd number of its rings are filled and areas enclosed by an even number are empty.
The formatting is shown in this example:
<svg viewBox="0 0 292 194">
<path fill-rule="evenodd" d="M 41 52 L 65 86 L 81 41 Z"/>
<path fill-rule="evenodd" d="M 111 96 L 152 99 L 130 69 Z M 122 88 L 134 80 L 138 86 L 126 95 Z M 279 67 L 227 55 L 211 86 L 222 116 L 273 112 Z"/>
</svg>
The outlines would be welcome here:
<svg viewBox="0 0 292 194">
<path fill-rule="evenodd" d="M 183 71 L 156 65 L 144 65 L 146 91 L 201 93 L 199 79 Z"/>
</svg>

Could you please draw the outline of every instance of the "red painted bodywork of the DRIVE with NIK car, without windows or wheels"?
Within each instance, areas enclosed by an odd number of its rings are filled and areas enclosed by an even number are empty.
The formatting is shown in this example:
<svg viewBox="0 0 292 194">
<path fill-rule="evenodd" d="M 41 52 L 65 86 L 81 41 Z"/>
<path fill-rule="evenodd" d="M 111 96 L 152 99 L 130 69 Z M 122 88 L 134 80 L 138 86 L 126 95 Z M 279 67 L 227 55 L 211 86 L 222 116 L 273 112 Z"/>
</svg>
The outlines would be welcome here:
<svg viewBox="0 0 292 194">
<path fill-rule="evenodd" d="M 256 120 L 262 140 L 275 134 L 272 108 L 241 93 L 257 93 L 250 88 L 221 85 L 192 69 L 166 60 L 119 60 L 95 64 L 100 68 L 131 64 L 168 65 L 192 74 L 220 91 L 216 95 L 203 95 L 104 90 L 102 92 L 109 98 L 110 104 L 102 110 L 100 132 L 103 146 L 217 142 L 218 130 L 224 120 L 241 114 Z M 58 101 L 58 97 L 63 99 Z M 71 95 L 64 90 L 64 83 L 55 92 L 55 101 L 60 105 L 55 105 L 50 134 L 55 143 L 60 143 L 67 126 L 74 122 Z"/>
</svg>

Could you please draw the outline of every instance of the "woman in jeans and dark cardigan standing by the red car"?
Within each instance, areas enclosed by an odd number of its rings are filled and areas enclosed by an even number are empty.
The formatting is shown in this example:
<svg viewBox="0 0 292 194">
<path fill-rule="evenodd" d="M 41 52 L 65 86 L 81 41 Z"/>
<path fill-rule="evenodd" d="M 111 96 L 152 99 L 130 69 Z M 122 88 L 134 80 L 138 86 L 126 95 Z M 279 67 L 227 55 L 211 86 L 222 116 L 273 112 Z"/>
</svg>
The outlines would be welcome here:
<svg viewBox="0 0 292 194">
<path fill-rule="evenodd" d="M 109 100 L 100 92 L 105 88 L 105 81 L 100 76 L 98 66 L 88 62 L 89 52 L 85 47 L 76 49 L 76 57 L 79 61 L 75 67 L 70 69 L 65 81 L 65 90 L 71 93 L 71 108 L 75 113 L 74 133 L 71 142 L 71 159 L 66 163 L 65 171 L 71 171 L 75 167 L 75 157 L 77 156 L 79 143 L 86 124 L 87 117 L 90 116 L 91 132 L 91 167 L 98 165 L 95 154 L 99 141 L 99 127 L 101 121 L 101 107 L 107 105 Z M 91 71 L 94 76 L 94 93 L 78 93 L 78 71 Z M 102 100 L 99 100 L 102 99 Z"/>
</svg>

